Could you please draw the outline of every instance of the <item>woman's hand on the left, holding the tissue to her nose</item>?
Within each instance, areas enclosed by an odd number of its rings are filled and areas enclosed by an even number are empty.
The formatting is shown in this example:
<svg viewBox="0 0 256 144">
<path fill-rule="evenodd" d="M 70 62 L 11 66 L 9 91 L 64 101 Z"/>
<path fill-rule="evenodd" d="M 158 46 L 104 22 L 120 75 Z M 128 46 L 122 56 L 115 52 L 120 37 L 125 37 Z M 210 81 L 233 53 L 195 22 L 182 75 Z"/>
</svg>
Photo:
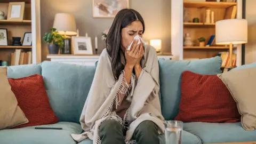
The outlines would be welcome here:
<svg viewBox="0 0 256 144">
<path fill-rule="evenodd" d="M 133 68 L 137 63 L 137 61 L 141 59 L 140 58 L 141 54 L 139 54 L 141 45 L 140 44 L 138 45 L 138 42 L 139 42 L 138 40 L 135 40 L 133 42 L 130 51 L 126 49 L 125 59 L 126 59 L 126 65 L 129 66 L 129 68 Z"/>
</svg>

